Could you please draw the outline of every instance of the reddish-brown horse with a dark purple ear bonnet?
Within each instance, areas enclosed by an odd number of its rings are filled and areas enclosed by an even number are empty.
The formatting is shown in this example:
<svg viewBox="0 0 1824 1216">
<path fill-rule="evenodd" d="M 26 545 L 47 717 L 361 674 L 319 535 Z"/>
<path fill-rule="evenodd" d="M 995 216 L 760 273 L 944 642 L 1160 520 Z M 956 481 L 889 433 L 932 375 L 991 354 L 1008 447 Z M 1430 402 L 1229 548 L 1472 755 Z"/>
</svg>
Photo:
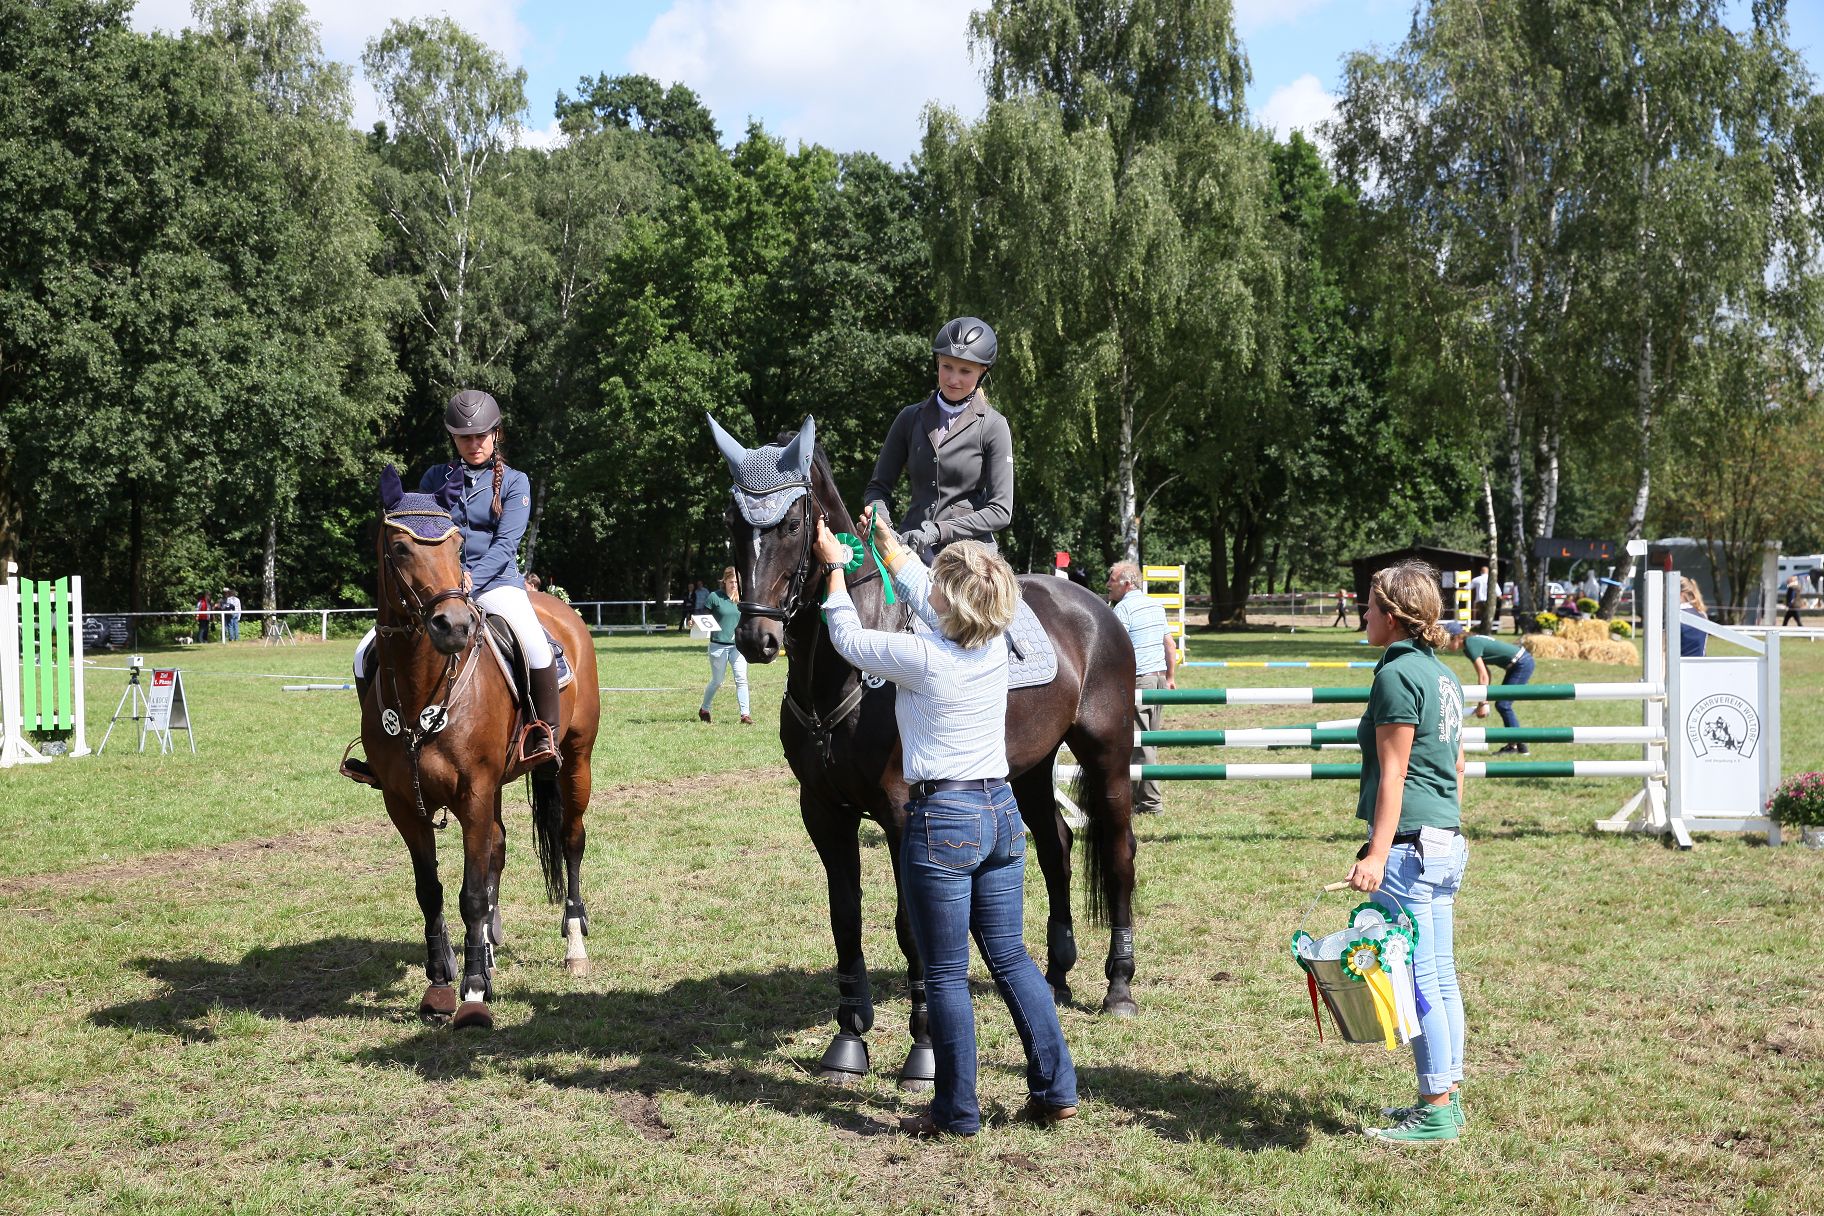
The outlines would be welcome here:
<svg viewBox="0 0 1824 1216">
<path fill-rule="evenodd" d="M 405 839 L 425 913 L 425 977 L 418 1012 L 452 1026 L 492 1026 L 494 946 L 502 941 L 500 871 L 507 864 L 502 786 L 527 775 L 516 762 L 518 695 L 487 653 L 482 609 L 461 567 L 461 532 L 449 509 L 452 481 L 438 494 L 407 494 L 392 465 L 379 479 L 376 541 L 379 627 L 376 678 L 361 696 L 361 744 Z M 586 974 L 582 817 L 589 806 L 589 758 L 602 716 L 595 644 L 576 611 L 531 593 L 533 611 L 562 644 L 575 678 L 562 693 L 558 764 L 531 769 L 533 840 L 551 902 L 564 901 L 565 966 Z M 463 970 L 458 1005 L 456 952 L 443 924 L 436 815 L 461 824 Z"/>
</svg>

